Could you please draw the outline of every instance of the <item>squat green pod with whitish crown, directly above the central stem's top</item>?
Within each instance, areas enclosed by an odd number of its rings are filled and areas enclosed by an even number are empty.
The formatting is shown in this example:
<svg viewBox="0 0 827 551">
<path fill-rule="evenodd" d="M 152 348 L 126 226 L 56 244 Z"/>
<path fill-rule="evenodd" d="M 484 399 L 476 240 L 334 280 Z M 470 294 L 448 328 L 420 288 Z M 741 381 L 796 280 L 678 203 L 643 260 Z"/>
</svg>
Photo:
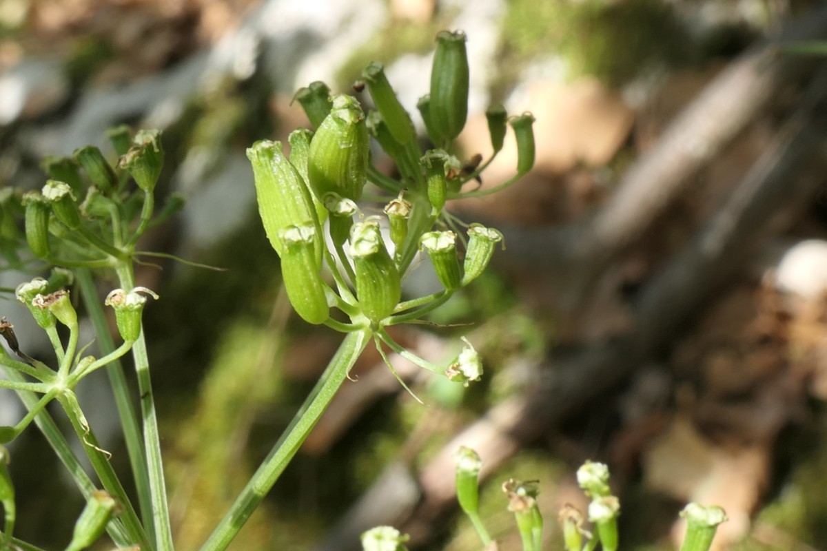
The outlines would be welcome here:
<svg viewBox="0 0 827 551">
<path fill-rule="evenodd" d="M 376 221 L 354 224 L 350 243 L 356 273 L 356 298 L 362 313 L 378 323 L 393 313 L 402 297 L 399 269 L 385 248 Z"/>
</svg>

